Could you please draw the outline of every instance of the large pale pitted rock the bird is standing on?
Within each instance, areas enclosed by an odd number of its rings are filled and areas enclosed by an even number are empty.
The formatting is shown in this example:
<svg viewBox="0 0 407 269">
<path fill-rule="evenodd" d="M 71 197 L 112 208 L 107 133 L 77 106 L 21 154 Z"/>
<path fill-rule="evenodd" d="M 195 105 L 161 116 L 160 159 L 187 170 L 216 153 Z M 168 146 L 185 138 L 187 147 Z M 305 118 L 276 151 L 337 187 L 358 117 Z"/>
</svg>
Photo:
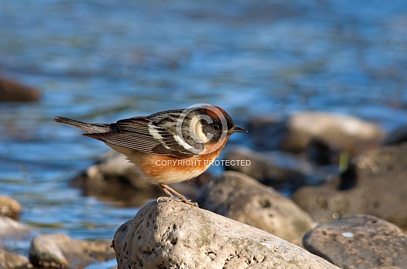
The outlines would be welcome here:
<svg viewBox="0 0 407 269">
<path fill-rule="evenodd" d="M 118 269 L 337 268 L 275 235 L 179 202 L 151 202 L 114 236 Z"/>
</svg>

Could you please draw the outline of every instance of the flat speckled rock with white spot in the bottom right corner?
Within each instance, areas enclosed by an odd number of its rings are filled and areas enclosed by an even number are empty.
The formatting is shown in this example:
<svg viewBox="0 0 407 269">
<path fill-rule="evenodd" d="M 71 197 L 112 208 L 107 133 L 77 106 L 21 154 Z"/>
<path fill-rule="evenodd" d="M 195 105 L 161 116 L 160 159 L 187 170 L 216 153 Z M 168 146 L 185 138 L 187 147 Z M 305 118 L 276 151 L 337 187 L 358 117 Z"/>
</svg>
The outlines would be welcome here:
<svg viewBox="0 0 407 269">
<path fill-rule="evenodd" d="M 407 268 L 406 233 L 369 215 L 321 224 L 304 236 L 303 245 L 340 268 Z"/>
</svg>

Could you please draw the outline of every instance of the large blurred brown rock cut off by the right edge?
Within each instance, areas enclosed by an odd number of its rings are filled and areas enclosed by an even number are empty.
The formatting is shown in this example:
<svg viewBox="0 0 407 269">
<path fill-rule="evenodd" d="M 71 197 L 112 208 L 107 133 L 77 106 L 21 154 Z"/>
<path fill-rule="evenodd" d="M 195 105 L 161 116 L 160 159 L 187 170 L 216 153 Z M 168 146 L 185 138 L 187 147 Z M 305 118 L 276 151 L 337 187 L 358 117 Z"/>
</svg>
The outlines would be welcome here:
<svg viewBox="0 0 407 269">
<path fill-rule="evenodd" d="M 375 215 L 407 227 L 407 144 L 380 147 L 354 160 L 354 184 L 345 177 L 319 187 L 303 187 L 293 200 L 319 223 L 351 214 Z"/>
</svg>

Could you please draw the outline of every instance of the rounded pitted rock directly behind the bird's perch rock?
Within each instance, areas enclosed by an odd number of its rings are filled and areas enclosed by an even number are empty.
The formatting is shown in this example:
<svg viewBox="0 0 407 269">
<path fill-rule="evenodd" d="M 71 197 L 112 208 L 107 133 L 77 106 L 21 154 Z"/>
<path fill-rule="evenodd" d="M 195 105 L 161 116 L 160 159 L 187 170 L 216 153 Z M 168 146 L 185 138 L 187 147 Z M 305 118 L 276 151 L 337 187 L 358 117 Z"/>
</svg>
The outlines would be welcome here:
<svg viewBox="0 0 407 269">
<path fill-rule="evenodd" d="M 226 171 L 209 180 L 195 198 L 201 208 L 301 245 L 313 221 L 293 201 L 254 178 Z"/>
</svg>

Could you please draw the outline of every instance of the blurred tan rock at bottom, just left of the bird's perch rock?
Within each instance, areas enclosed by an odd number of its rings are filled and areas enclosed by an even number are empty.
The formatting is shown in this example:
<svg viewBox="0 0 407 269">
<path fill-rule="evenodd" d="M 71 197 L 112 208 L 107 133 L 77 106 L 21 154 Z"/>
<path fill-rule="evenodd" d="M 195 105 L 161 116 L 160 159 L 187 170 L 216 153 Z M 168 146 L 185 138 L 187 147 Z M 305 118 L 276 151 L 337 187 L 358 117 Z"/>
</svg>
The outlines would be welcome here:
<svg viewBox="0 0 407 269">
<path fill-rule="evenodd" d="M 29 261 L 46 268 L 84 268 L 114 257 L 109 242 L 74 240 L 68 235 L 39 235 L 32 240 Z"/>
</svg>

